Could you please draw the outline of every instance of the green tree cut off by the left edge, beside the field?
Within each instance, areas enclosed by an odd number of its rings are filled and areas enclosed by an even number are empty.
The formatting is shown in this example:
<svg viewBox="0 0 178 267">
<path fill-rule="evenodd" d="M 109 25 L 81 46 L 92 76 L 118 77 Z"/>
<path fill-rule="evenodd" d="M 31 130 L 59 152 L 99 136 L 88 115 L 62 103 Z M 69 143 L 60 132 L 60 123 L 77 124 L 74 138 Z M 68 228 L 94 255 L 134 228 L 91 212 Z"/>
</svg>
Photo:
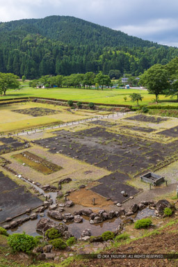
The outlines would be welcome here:
<svg viewBox="0 0 178 267">
<path fill-rule="evenodd" d="M 0 92 L 6 95 L 6 90 L 19 88 L 18 78 L 15 74 L 0 72 Z"/>
</svg>

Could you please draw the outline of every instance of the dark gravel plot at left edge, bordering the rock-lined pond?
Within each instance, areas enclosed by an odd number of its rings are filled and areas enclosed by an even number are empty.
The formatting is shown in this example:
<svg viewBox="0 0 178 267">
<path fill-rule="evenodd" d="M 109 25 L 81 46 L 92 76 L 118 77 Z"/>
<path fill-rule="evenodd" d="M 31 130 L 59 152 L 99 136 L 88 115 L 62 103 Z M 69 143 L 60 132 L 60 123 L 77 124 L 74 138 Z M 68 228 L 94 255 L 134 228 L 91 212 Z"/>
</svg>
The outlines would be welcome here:
<svg viewBox="0 0 178 267">
<path fill-rule="evenodd" d="M 26 212 L 26 209 L 40 207 L 43 202 L 0 172 L 0 223 L 8 217 L 16 217 Z"/>
</svg>

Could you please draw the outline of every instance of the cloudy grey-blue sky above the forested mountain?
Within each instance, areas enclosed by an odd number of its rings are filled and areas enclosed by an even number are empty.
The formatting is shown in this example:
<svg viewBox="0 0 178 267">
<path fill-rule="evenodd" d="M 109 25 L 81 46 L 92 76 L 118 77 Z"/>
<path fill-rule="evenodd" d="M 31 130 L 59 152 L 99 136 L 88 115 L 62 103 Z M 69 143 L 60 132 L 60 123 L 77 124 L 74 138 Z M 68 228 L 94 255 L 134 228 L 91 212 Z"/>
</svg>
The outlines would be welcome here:
<svg viewBox="0 0 178 267">
<path fill-rule="evenodd" d="M 0 21 L 70 15 L 178 47 L 178 0 L 0 0 Z"/>
</svg>

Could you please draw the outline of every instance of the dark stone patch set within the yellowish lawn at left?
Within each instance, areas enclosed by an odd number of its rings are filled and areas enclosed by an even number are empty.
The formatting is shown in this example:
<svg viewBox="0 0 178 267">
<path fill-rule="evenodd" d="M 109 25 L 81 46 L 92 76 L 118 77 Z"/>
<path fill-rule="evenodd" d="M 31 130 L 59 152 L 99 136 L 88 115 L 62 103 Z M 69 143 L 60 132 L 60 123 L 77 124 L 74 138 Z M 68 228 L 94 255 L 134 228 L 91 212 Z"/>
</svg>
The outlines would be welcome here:
<svg viewBox="0 0 178 267">
<path fill-rule="evenodd" d="M 60 111 L 56 111 L 55 109 L 51 108 L 14 109 L 13 112 L 22 113 L 24 115 L 31 115 L 33 117 L 47 116 L 60 113 Z"/>
</svg>

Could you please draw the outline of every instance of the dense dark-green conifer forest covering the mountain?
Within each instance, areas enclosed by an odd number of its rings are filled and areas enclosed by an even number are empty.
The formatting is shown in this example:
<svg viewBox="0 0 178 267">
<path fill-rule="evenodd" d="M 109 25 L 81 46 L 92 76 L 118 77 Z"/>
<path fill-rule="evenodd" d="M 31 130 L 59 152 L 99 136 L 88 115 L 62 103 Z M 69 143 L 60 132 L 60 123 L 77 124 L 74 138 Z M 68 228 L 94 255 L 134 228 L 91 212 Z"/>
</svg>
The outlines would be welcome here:
<svg viewBox="0 0 178 267">
<path fill-rule="evenodd" d="M 51 16 L 0 23 L 0 72 L 37 79 L 102 71 L 137 76 L 167 64 L 178 49 L 114 31 L 83 19 Z"/>
</svg>

